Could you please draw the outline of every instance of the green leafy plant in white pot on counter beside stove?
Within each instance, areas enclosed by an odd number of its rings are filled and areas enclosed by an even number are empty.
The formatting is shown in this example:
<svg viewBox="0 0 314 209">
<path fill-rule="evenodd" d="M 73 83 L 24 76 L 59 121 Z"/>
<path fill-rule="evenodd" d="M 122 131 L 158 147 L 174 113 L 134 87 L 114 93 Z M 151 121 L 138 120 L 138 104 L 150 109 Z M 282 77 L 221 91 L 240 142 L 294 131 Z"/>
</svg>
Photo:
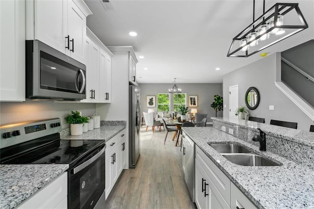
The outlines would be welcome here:
<svg viewBox="0 0 314 209">
<path fill-rule="evenodd" d="M 70 124 L 70 134 L 80 135 L 83 133 L 83 126 L 88 123 L 89 118 L 81 116 L 77 110 L 71 111 L 71 113 L 72 114 L 68 114 L 68 116 L 64 118 L 65 121 Z"/>
</svg>

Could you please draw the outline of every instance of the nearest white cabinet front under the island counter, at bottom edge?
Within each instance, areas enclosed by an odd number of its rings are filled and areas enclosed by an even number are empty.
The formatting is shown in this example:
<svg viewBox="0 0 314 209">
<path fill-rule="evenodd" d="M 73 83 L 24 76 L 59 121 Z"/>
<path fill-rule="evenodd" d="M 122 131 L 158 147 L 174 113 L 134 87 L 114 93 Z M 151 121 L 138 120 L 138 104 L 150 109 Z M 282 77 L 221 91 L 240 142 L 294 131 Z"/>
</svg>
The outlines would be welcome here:
<svg viewBox="0 0 314 209">
<path fill-rule="evenodd" d="M 257 207 L 231 183 L 231 209 L 257 209 Z"/>
</svg>

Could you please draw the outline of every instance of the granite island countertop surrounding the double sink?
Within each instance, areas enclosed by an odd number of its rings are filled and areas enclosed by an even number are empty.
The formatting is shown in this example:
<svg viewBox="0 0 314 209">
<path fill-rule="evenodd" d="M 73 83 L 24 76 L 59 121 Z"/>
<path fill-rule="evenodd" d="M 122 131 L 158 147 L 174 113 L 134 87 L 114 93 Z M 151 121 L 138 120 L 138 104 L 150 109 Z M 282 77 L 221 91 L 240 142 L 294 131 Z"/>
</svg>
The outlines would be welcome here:
<svg viewBox="0 0 314 209">
<path fill-rule="evenodd" d="M 184 127 L 183 131 L 229 177 L 229 179 L 260 209 L 314 208 L 314 172 L 223 131 L 208 127 Z M 281 163 L 281 166 L 236 165 L 208 142 L 234 142 L 255 153 Z"/>
</svg>

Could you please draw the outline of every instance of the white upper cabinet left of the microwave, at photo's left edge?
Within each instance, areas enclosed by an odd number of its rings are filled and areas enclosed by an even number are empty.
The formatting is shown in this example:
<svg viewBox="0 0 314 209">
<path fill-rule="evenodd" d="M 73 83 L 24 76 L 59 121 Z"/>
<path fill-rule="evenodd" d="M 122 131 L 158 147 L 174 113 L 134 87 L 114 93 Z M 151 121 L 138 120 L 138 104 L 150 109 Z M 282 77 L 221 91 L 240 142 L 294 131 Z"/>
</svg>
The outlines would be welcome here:
<svg viewBox="0 0 314 209">
<path fill-rule="evenodd" d="M 0 101 L 25 101 L 25 1 L 0 0 Z"/>
</svg>

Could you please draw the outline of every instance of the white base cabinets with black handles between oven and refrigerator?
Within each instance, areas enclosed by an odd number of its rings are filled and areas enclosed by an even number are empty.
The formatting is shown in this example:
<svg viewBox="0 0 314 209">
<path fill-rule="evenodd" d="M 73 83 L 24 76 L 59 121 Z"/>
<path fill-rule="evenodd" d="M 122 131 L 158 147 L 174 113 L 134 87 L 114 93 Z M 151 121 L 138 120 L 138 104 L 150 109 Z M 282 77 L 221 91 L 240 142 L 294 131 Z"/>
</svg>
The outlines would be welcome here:
<svg viewBox="0 0 314 209">
<path fill-rule="evenodd" d="M 105 149 L 105 198 L 107 199 L 114 184 L 117 182 L 122 170 L 122 143 L 125 142 L 126 130 L 120 131 L 117 135 L 106 142 Z"/>
</svg>

